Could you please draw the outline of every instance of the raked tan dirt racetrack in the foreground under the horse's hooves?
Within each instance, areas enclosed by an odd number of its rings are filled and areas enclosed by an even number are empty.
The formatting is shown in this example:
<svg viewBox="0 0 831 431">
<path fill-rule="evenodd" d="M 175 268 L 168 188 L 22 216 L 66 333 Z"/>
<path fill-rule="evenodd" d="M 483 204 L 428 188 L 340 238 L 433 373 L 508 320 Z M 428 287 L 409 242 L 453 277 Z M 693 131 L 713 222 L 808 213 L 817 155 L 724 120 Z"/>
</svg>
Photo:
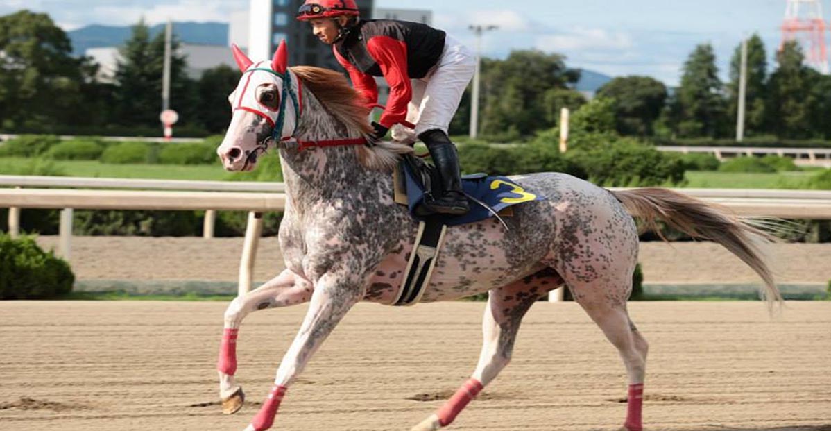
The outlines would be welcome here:
<svg viewBox="0 0 831 431">
<path fill-rule="evenodd" d="M 215 355 L 225 304 L 0 303 L 0 429 L 242 430 L 267 394 L 305 306 L 266 310 L 240 331 L 251 403 L 219 411 Z M 479 356 L 481 303 L 358 305 L 288 391 L 282 431 L 407 430 Z M 647 430 L 831 431 L 831 302 L 630 305 L 651 343 Z M 514 362 L 449 430 L 614 430 L 622 362 L 572 303 L 539 303 Z"/>
</svg>

